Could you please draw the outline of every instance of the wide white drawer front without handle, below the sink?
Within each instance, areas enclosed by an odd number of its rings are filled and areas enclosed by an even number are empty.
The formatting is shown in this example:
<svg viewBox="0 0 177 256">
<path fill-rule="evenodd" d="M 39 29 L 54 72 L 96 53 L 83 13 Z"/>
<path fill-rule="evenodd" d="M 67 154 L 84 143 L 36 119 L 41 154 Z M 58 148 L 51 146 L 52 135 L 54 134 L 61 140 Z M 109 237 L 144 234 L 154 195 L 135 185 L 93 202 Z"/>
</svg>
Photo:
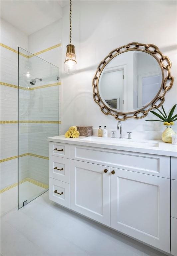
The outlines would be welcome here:
<svg viewBox="0 0 177 256">
<path fill-rule="evenodd" d="M 170 178 L 170 157 L 71 145 L 74 160 Z"/>
</svg>

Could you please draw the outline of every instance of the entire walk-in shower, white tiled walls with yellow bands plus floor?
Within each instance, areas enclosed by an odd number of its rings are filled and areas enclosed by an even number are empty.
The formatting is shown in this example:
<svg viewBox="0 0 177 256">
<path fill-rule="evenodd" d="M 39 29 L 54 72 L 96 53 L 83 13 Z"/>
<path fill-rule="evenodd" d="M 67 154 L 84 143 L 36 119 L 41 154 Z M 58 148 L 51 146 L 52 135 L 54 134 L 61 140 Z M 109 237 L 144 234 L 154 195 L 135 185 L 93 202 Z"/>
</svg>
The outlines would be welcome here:
<svg viewBox="0 0 177 256">
<path fill-rule="evenodd" d="M 53 32 L 49 44 L 45 35 L 50 25 L 27 36 L 1 19 L 1 215 L 17 207 L 18 201 L 20 208 L 24 201 L 30 202 L 48 189 L 46 138 L 61 133 L 61 80 L 57 80 L 61 66 L 60 20 L 55 26 L 59 33 Z M 39 33 L 44 39 L 40 49 Z M 19 56 L 18 46 L 22 47 Z M 30 84 L 32 78 L 39 77 L 42 81 Z"/>
</svg>

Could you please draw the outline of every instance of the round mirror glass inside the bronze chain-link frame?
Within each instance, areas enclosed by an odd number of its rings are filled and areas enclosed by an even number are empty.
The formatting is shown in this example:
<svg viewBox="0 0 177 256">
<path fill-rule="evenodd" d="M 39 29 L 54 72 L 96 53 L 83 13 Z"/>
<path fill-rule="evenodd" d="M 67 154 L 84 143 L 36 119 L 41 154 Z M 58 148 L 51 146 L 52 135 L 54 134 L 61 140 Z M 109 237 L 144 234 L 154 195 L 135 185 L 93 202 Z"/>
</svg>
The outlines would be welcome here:
<svg viewBox="0 0 177 256">
<path fill-rule="evenodd" d="M 103 69 L 98 91 L 101 100 L 117 112 L 134 112 L 149 105 L 162 84 L 157 60 L 142 51 L 127 51 L 114 57 Z"/>
</svg>

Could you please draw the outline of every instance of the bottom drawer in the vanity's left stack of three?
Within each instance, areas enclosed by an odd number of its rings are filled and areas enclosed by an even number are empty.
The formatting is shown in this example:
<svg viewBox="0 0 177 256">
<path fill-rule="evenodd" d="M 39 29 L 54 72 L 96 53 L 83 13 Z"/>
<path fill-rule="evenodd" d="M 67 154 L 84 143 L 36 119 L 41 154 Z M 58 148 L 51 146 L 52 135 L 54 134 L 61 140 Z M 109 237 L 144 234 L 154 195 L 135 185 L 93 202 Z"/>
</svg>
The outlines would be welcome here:
<svg viewBox="0 0 177 256">
<path fill-rule="evenodd" d="M 49 178 L 49 199 L 70 208 L 70 184 Z"/>
</svg>

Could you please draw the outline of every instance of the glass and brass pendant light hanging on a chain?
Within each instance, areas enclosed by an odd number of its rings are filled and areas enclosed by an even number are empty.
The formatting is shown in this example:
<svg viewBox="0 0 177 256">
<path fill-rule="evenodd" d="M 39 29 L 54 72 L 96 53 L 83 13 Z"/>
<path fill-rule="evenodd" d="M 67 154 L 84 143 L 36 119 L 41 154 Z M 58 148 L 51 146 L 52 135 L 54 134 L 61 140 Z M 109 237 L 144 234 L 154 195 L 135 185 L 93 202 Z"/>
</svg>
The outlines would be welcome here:
<svg viewBox="0 0 177 256">
<path fill-rule="evenodd" d="M 72 0 L 70 0 L 70 44 L 67 45 L 65 68 L 64 68 L 64 72 L 67 74 L 74 74 L 77 72 L 75 47 L 73 44 L 71 44 L 71 32 L 72 32 L 71 12 L 72 12 Z"/>
</svg>

